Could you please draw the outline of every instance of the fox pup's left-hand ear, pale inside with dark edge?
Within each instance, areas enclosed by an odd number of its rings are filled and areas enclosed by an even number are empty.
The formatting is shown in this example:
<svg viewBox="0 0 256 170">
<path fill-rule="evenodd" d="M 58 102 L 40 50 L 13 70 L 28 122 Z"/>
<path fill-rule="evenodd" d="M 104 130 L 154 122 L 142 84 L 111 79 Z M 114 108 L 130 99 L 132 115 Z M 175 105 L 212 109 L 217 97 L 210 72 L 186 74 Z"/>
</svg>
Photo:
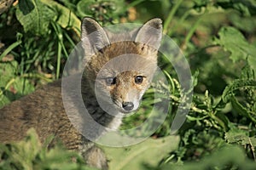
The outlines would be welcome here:
<svg viewBox="0 0 256 170">
<path fill-rule="evenodd" d="M 81 40 L 85 54 L 92 50 L 96 53 L 110 44 L 108 35 L 102 26 L 96 20 L 88 17 L 85 17 L 81 24 Z"/>
</svg>

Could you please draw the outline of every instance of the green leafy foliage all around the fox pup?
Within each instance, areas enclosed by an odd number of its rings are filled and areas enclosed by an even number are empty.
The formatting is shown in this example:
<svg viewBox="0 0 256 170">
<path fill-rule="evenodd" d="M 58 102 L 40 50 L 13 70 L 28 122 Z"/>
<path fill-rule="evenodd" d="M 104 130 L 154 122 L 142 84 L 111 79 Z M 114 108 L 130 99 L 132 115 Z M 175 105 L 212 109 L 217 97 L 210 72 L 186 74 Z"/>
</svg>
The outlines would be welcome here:
<svg viewBox="0 0 256 170">
<path fill-rule="evenodd" d="M 139 145 L 148 152 L 106 148 L 107 155 L 116 156 L 110 161 L 112 169 L 122 169 L 115 167 L 118 161 L 114 161 L 120 156 L 124 156 L 126 166 L 132 165 L 134 169 L 256 168 L 254 0 L 15 2 L 0 15 L 0 107 L 61 77 L 68 54 L 79 42 L 79 24 L 85 15 L 95 18 L 103 26 L 161 18 L 164 33 L 183 50 L 193 73 L 195 94 L 192 107 L 177 133 L 178 139 L 170 139 L 170 125 L 181 100 L 182 89 L 172 65 L 160 57 L 160 67 L 171 84 L 172 94 L 166 97 L 172 99 L 172 110 L 152 138 L 166 142 L 161 145 L 149 141 Z M 152 105 L 152 97 L 150 93 L 145 95 L 142 107 L 146 113 L 148 105 Z M 144 119 L 145 115 L 138 112 L 137 116 L 125 120 L 123 128 Z M 39 149 L 28 152 L 27 144 Z M 158 156 L 159 149 L 152 150 L 156 145 L 167 152 Z M 61 156 L 58 153 L 62 153 Z M 134 159 L 129 157 L 130 154 Z M 22 156 L 27 159 L 20 159 Z M 145 159 L 138 159 L 140 156 Z M 41 169 L 85 168 L 79 156 L 77 164 L 67 167 L 67 162 L 71 162 L 67 158 L 70 157 L 76 156 L 62 148 L 45 150 L 44 144 L 37 141 L 36 134 L 30 133 L 25 143 L 1 145 L 0 169 L 37 166 Z M 131 163 L 135 161 L 137 163 Z M 56 162 L 59 163 L 57 166 Z"/>
</svg>

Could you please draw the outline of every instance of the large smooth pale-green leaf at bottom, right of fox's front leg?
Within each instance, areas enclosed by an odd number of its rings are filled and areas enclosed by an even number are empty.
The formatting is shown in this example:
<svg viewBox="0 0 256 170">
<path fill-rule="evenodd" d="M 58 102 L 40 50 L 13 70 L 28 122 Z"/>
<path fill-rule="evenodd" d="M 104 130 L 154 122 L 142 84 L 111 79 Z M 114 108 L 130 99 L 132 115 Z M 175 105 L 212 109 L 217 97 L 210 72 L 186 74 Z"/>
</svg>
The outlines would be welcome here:
<svg viewBox="0 0 256 170">
<path fill-rule="evenodd" d="M 168 136 L 146 141 L 125 148 L 104 147 L 110 170 L 142 169 L 143 164 L 157 166 L 172 150 L 177 149 L 179 138 Z"/>
</svg>

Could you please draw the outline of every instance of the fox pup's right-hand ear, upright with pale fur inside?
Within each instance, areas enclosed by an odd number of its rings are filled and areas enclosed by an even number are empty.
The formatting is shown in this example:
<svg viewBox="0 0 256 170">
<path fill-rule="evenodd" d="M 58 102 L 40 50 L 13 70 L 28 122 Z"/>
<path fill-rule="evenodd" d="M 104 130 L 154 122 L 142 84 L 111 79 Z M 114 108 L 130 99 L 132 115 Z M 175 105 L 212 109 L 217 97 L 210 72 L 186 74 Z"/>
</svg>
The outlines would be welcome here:
<svg viewBox="0 0 256 170">
<path fill-rule="evenodd" d="M 158 50 L 162 38 L 162 20 L 148 20 L 137 32 L 135 42 L 143 43 L 151 48 Z"/>
</svg>

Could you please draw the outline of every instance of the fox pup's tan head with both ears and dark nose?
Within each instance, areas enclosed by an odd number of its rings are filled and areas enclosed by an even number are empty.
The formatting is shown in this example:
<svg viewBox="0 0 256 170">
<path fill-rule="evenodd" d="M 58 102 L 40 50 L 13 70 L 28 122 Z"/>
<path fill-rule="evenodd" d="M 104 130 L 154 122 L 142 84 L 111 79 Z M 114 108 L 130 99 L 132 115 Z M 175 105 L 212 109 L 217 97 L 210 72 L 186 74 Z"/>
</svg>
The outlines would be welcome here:
<svg viewBox="0 0 256 170">
<path fill-rule="evenodd" d="M 81 28 L 84 77 L 97 100 L 108 105 L 102 109 L 136 111 L 157 69 L 161 20 L 149 20 L 139 29 L 118 34 L 90 18 L 84 18 Z"/>
</svg>

